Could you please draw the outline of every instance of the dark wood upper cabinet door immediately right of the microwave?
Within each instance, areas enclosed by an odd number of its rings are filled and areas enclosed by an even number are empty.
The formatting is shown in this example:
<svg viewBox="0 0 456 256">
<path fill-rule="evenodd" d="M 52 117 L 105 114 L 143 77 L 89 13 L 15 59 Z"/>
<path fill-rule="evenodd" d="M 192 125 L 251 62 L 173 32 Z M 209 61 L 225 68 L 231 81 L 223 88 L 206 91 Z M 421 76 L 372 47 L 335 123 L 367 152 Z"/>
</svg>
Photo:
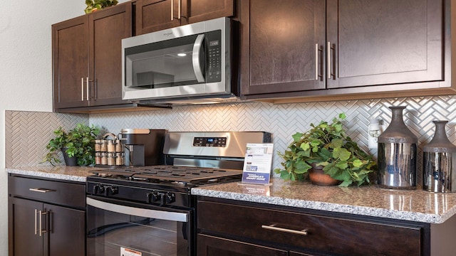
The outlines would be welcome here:
<svg viewBox="0 0 456 256">
<path fill-rule="evenodd" d="M 241 2 L 242 94 L 325 88 L 325 2 Z"/>
</svg>

